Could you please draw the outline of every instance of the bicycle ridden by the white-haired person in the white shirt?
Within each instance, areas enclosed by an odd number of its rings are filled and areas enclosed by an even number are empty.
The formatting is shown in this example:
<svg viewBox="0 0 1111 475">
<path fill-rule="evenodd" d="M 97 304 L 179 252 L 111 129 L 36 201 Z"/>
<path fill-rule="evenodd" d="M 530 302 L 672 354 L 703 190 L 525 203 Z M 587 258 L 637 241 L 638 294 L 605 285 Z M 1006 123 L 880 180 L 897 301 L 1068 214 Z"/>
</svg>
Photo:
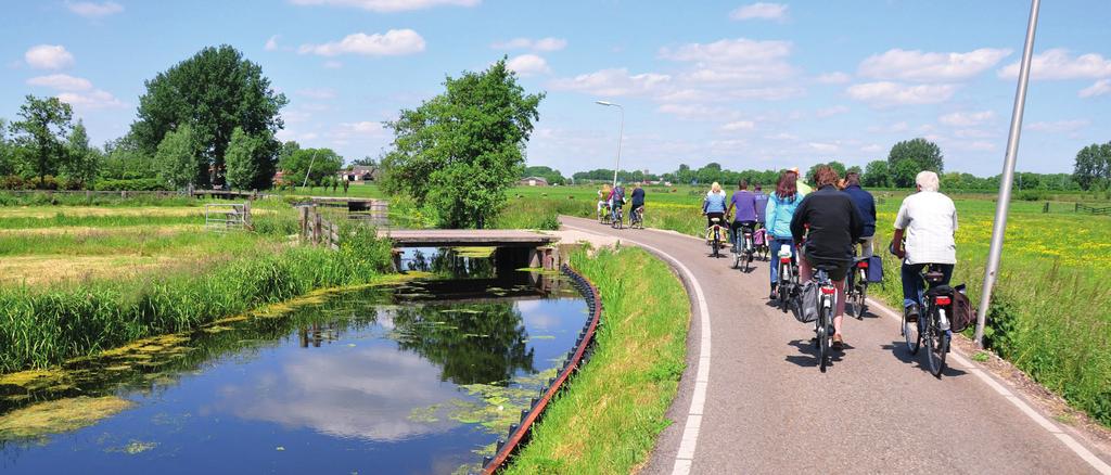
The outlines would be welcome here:
<svg viewBox="0 0 1111 475">
<path fill-rule="evenodd" d="M 907 350 L 910 354 L 918 354 L 922 343 L 927 347 L 927 362 L 930 365 L 930 373 L 934 377 L 941 378 L 941 373 L 945 371 L 945 355 L 949 353 L 949 345 L 952 342 L 952 331 L 949 330 L 949 314 L 953 310 L 953 287 L 942 285 L 944 274 L 940 264 L 927 264 L 924 279 L 929 290 L 922 294 L 925 309 L 921 312 L 918 322 L 908 320 L 908 312 L 903 312 L 902 334 L 907 341 Z"/>
</svg>

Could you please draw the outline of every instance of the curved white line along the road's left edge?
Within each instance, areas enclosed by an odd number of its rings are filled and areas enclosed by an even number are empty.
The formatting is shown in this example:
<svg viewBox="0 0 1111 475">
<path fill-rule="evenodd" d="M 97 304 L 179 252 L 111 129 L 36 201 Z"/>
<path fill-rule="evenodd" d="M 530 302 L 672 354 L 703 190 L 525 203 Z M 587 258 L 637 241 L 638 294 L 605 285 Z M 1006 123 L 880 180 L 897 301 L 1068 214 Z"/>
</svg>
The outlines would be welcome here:
<svg viewBox="0 0 1111 475">
<path fill-rule="evenodd" d="M 577 231 L 598 234 L 597 232 L 588 229 L 572 226 L 569 224 L 563 225 Z M 660 257 L 670 261 L 672 267 L 683 273 L 687 282 L 690 283 L 691 289 L 694 291 L 694 297 L 698 301 L 701 337 L 699 338 L 698 370 L 694 372 L 697 375 L 694 380 L 694 393 L 691 396 L 690 410 L 687 411 L 687 422 L 683 424 L 683 435 L 681 442 L 679 443 L 679 453 L 675 454 L 675 465 L 671 471 L 672 475 L 685 475 L 691 472 L 691 466 L 694 464 L 694 448 L 698 446 L 698 435 L 699 431 L 702 428 L 702 413 L 705 406 L 705 392 L 707 387 L 710 385 L 711 334 L 709 305 L 705 302 L 705 293 L 702 292 L 702 285 L 698 283 L 698 279 L 694 279 L 694 273 L 692 273 L 687 265 L 678 259 L 671 256 L 671 254 L 668 254 L 654 246 L 630 239 L 625 239 L 625 241 L 640 247 L 644 247 Z"/>
</svg>

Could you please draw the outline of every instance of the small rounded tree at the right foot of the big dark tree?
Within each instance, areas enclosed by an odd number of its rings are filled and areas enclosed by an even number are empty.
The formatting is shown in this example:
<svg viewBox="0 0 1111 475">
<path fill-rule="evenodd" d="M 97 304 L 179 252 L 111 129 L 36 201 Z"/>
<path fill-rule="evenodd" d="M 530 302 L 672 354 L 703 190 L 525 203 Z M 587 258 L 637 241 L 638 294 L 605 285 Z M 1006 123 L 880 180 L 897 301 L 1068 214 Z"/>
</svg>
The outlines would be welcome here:
<svg viewBox="0 0 1111 475">
<path fill-rule="evenodd" d="M 237 127 L 224 155 L 228 185 L 240 190 L 270 188 L 279 148 L 281 144 L 270 131 L 250 134 Z"/>
</svg>

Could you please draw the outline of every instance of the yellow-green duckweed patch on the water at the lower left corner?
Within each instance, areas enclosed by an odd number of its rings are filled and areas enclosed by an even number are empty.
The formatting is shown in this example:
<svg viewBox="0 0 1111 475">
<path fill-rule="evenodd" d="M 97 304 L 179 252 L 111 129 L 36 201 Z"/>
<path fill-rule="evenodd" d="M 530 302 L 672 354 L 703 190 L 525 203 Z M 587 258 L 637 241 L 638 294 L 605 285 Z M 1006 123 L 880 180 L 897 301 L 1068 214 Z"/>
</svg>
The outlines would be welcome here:
<svg viewBox="0 0 1111 475">
<path fill-rule="evenodd" d="M 0 438 L 36 438 L 76 431 L 133 406 L 116 396 L 49 401 L 0 416 Z"/>
</svg>

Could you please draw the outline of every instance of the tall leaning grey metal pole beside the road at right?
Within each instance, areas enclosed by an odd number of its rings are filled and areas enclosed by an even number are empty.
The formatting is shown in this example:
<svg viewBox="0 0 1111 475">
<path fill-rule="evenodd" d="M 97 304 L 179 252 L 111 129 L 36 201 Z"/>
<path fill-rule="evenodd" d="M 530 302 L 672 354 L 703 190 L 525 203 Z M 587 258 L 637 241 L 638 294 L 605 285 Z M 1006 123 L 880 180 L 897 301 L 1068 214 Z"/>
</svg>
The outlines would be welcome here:
<svg viewBox="0 0 1111 475">
<path fill-rule="evenodd" d="M 999 183 L 999 203 L 995 205 L 995 224 L 991 231 L 991 249 L 988 251 L 988 266 L 983 273 L 983 290 L 980 292 L 980 310 L 977 312 L 975 343 L 983 347 L 983 326 L 991 304 L 991 290 L 999 276 L 999 260 L 1003 253 L 1003 233 L 1007 230 L 1007 212 L 1011 205 L 1011 186 L 1014 183 L 1014 162 L 1019 152 L 1019 135 L 1022 133 L 1022 111 L 1027 105 L 1027 84 L 1030 82 L 1030 57 L 1034 50 L 1034 31 L 1038 29 L 1038 10 L 1041 0 L 1031 0 L 1030 21 L 1027 23 L 1027 42 L 1022 48 L 1022 64 L 1019 67 L 1019 87 L 1014 92 L 1014 110 L 1011 112 L 1011 131 L 1007 139 L 1007 158 Z"/>
</svg>

